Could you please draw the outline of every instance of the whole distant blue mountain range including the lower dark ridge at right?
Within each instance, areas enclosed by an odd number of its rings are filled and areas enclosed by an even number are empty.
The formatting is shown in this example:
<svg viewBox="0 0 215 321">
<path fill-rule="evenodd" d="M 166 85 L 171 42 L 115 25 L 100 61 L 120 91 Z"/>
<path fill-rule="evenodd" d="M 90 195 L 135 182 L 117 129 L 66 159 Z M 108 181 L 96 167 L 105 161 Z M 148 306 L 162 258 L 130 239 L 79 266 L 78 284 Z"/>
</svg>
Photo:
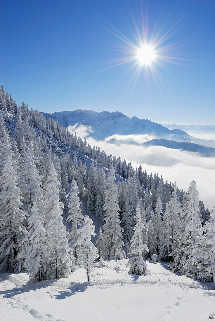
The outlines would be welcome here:
<svg viewBox="0 0 215 321">
<path fill-rule="evenodd" d="M 66 127 L 74 125 L 89 126 L 91 129 L 89 135 L 96 140 L 103 140 L 115 134 L 148 134 L 153 136 L 154 139 L 143 143 L 143 146 L 157 145 L 183 149 L 190 152 L 199 152 L 204 156 L 214 156 L 213 148 L 215 148 L 215 141 L 213 140 L 198 139 L 187 134 L 180 128 L 167 128 L 148 119 L 140 119 L 138 117 L 129 118 L 119 111 L 111 113 L 109 111 L 103 111 L 99 113 L 88 109 L 76 109 L 73 111 L 43 114 L 47 120 L 53 117 L 54 120 L 57 120 Z M 112 143 L 113 141 L 114 140 L 111 140 Z M 171 141 L 173 141 L 173 143 L 171 143 Z M 182 144 L 180 142 L 190 144 Z M 211 147 L 212 149 L 203 147 Z"/>
</svg>

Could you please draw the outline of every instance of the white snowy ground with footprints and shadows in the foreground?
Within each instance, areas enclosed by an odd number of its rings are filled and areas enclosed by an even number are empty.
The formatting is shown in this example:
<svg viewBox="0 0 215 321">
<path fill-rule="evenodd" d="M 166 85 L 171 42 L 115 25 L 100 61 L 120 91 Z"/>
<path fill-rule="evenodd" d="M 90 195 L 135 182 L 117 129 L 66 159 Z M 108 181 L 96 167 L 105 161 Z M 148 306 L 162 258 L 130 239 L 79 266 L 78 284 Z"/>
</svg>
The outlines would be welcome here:
<svg viewBox="0 0 215 321">
<path fill-rule="evenodd" d="M 208 320 L 215 318 L 214 284 L 147 262 L 134 276 L 128 260 L 96 264 L 91 281 L 78 267 L 69 278 L 26 284 L 25 273 L 0 274 L 0 320 Z M 210 291 L 211 290 L 211 291 Z"/>
</svg>

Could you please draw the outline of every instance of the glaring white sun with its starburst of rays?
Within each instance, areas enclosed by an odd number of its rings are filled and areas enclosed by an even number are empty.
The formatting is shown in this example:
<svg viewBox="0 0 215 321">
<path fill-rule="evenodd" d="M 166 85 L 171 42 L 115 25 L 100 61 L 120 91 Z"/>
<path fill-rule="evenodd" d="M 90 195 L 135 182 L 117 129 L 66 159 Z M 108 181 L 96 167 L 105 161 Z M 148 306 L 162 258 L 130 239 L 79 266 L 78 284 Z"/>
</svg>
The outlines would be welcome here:
<svg viewBox="0 0 215 321">
<path fill-rule="evenodd" d="M 177 10 L 177 7 L 175 7 L 174 10 Z M 171 13 L 172 15 L 174 15 L 174 10 Z M 106 30 L 117 40 L 115 41 L 115 48 L 112 48 L 112 51 L 121 53 L 122 57 L 106 62 L 109 64 L 108 66 L 92 73 L 91 75 L 99 74 L 122 65 L 127 65 L 125 67 L 124 74 L 120 79 L 124 78 L 129 73 L 133 73 L 130 78 L 130 80 L 134 82 L 131 92 L 134 91 L 134 87 L 136 86 L 141 73 L 144 74 L 145 81 L 150 81 L 151 74 L 156 85 L 158 86 L 158 83 L 160 82 L 162 87 L 165 88 L 165 84 L 162 80 L 164 73 L 160 73 L 161 70 L 168 74 L 174 74 L 174 68 L 171 68 L 169 64 L 184 65 L 186 61 L 194 61 L 192 59 L 182 58 L 181 55 L 175 55 L 177 46 L 181 48 L 180 44 L 184 39 L 170 42 L 170 38 L 178 31 L 179 25 L 189 11 L 190 10 L 184 13 L 184 15 L 182 15 L 172 26 L 168 26 L 168 29 L 166 28 L 168 25 L 167 20 L 166 23 L 161 23 L 161 11 L 154 29 L 149 32 L 148 11 L 147 7 L 146 10 L 143 10 L 142 2 L 140 4 L 140 12 L 138 16 L 140 19 L 135 18 L 135 14 L 130 5 L 132 23 L 128 20 L 128 17 L 125 16 L 121 9 L 121 16 L 128 27 L 131 38 L 129 38 L 128 34 L 125 35 L 124 32 L 118 30 L 118 28 L 113 26 L 110 22 L 107 22 L 107 25 L 105 26 L 94 21 L 98 26 L 103 28 L 103 30 Z M 112 44 L 114 45 L 114 41 Z"/>
</svg>

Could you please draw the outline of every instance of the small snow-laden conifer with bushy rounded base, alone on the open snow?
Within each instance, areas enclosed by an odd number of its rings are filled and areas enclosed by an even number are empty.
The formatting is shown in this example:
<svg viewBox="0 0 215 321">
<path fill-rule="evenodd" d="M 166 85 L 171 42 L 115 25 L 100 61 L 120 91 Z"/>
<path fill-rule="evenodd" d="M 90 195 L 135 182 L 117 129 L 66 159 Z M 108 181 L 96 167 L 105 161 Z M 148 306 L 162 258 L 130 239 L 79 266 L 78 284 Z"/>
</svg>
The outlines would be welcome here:
<svg viewBox="0 0 215 321">
<path fill-rule="evenodd" d="M 137 275 L 147 275 L 149 271 L 142 255 L 143 251 L 149 252 L 149 250 L 147 245 L 142 242 L 144 226 L 141 222 L 139 203 L 137 204 L 135 221 L 134 234 L 130 240 L 130 255 L 133 256 L 129 260 L 130 271 Z"/>
</svg>

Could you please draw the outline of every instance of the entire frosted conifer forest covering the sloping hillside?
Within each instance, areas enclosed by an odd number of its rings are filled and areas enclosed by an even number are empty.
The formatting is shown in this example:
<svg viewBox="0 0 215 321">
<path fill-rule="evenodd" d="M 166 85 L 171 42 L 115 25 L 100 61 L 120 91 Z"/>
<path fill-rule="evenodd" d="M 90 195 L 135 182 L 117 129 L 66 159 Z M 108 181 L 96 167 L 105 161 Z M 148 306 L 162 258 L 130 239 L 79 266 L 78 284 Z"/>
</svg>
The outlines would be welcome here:
<svg viewBox="0 0 215 321">
<path fill-rule="evenodd" d="M 91 278 L 95 261 L 146 260 L 201 281 L 215 281 L 215 208 L 209 213 L 193 180 L 187 191 L 141 165 L 17 106 L 0 90 L 0 270 L 31 282 L 65 278 L 77 265 Z M 92 218 L 101 224 L 95 235 Z"/>
</svg>

